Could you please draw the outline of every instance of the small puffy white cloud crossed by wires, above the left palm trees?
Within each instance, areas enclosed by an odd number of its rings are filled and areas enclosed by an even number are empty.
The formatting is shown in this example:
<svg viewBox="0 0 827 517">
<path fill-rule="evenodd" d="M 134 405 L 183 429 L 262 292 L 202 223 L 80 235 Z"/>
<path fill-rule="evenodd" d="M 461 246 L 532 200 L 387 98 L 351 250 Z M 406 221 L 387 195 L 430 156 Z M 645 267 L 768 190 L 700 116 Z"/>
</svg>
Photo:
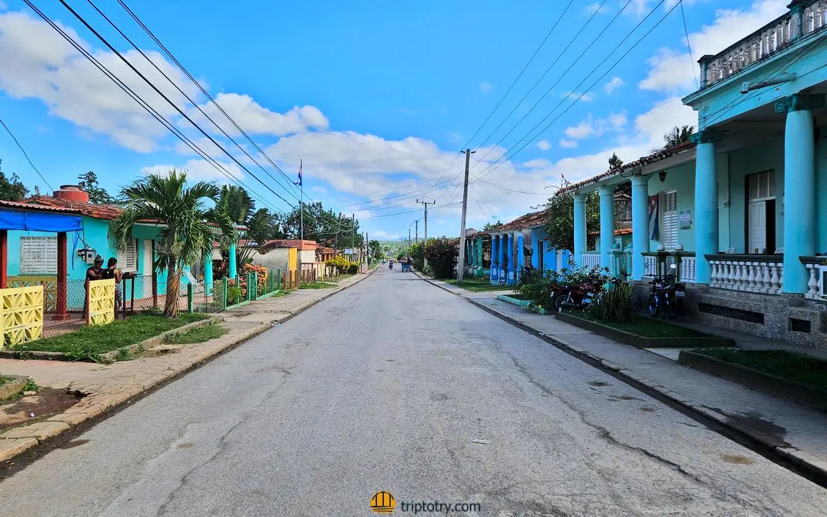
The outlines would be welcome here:
<svg viewBox="0 0 827 517">
<path fill-rule="evenodd" d="M 218 93 L 215 96 L 218 106 L 223 108 L 227 114 L 245 132 L 258 135 L 284 136 L 293 133 L 307 131 L 309 128 L 325 129 L 328 126 L 327 117 L 313 106 L 294 106 L 287 112 L 277 113 L 270 111 L 261 104 L 256 103 L 249 95 L 239 93 Z M 241 134 L 232 122 L 224 117 L 218 107 L 209 101 L 201 106 L 213 121 L 218 122 L 224 131 L 231 136 Z M 194 108 L 190 110 L 190 117 L 193 117 L 199 124 L 209 124 L 206 117 Z"/>
</svg>

